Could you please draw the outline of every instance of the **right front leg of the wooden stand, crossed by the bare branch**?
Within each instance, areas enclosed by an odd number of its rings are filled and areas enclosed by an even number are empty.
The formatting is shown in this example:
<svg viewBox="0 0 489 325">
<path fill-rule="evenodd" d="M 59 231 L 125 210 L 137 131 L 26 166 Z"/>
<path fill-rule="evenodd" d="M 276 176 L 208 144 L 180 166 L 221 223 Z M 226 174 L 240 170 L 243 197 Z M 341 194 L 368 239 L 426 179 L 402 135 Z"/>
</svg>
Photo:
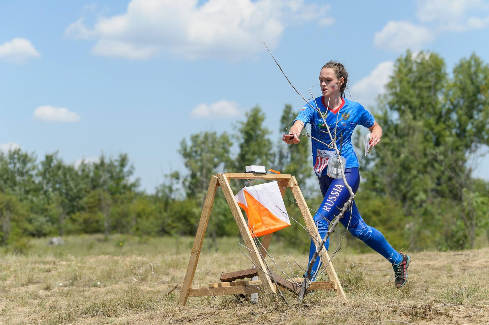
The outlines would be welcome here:
<svg viewBox="0 0 489 325">
<path fill-rule="evenodd" d="M 307 206 L 306 200 L 304 199 L 304 196 L 302 195 L 299 185 L 297 184 L 297 180 L 295 179 L 294 176 L 291 177 L 291 186 L 292 186 L 292 194 L 294 195 L 295 200 L 297 201 L 297 205 L 299 206 L 299 210 L 301 211 L 301 214 L 304 217 L 304 221 L 306 222 L 306 227 L 308 228 L 309 232 L 313 236 L 319 238 L 319 232 L 317 230 L 316 225 L 314 224 L 314 219 L 311 216 L 311 211 Z M 337 284 L 338 288 L 334 290 L 336 292 L 336 295 L 346 298 L 345 292 L 341 287 L 341 283 L 339 282 L 338 276 L 334 271 L 333 263 L 331 263 L 330 256 L 328 255 L 328 252 L 326 251 L 324 246 L 321 250 L 321 261 L 323 262 L 323 265 L 327 265 L 326 273 L 330 277 L 330 280 L 336 282 Z"/>
</svg>

